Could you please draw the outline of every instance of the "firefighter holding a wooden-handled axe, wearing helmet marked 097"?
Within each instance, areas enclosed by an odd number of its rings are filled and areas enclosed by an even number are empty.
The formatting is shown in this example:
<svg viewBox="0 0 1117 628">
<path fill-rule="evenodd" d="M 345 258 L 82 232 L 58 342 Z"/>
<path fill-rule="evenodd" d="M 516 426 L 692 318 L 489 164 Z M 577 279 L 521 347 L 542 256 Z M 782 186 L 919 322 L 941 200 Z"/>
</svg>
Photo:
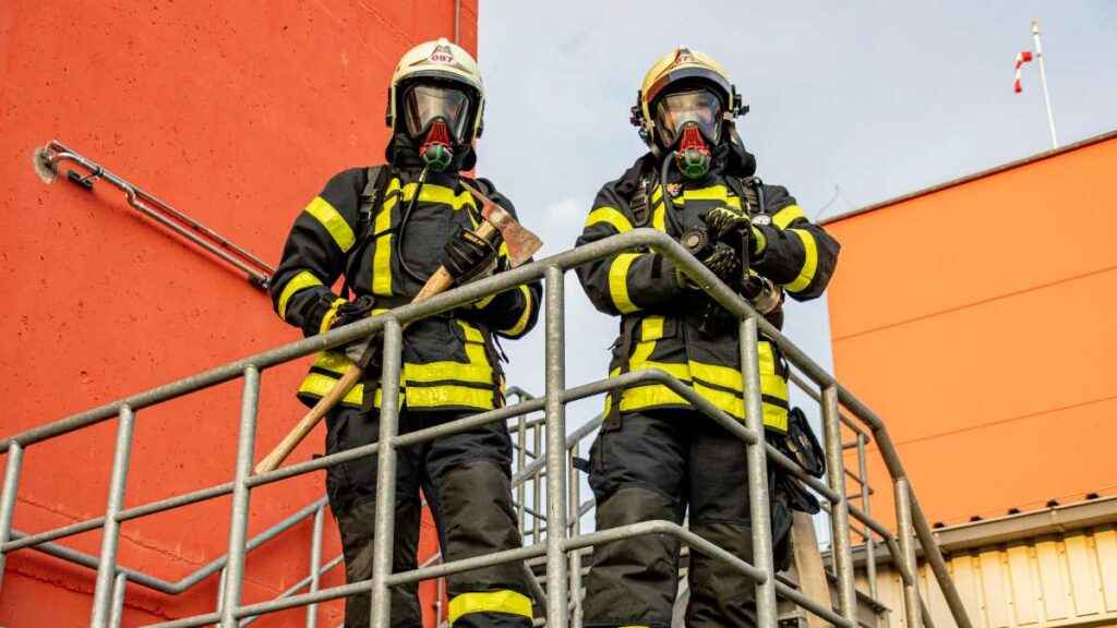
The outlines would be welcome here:
<svg viewBox="0 0 1117 628">
<path fill-rule="evenodd" d="M 388 163 L 331 179 L 295 219 L 271 285 L 279 317 L 307 336 L 407 304 L 442 265 L 455 284 L 508 267 L 507 248 L 474 236 L 480 201 L 462 185 L 474 168 L 485 89 L 474 58 L 439 39 L 416 46 L 392 75 Z M 474 182 L 515 215 L 484 179 Z M 331 286 L 341 278 L 342 294 Z M 345 298 L 352 292 L 354 298 Z M 504 373 L 494 336 L 518 339 L 535 325 L 542 287 L 521 286 L 404 332 L 400 432 L 491 410 L 504 403 Z M 344 351 L 317 355 L 298 389 L 313 406 L 352 364 Z M 366 370 L 327 416 L 326 451 L 378 438 L 380 369 Z M 430 505 L 447 561 L 519 548 L 512 507 L 512 440 L 504 422 L 487 424 L 401 449 L 395 495 L 393 570 L 416 569 L 422 504 Z M 327 469 L 326 492 L 341 531 L 350 582 L 372 577 L 376 458 Z M 449 577 L 455 627 L 532 625 L 522 565 L 509 563 Z M 417 584 L 391 590 L 391 626 L 420 627 Z M 369 626 L 370 597 L 345 602 L 345 626 Z"/>
</svg>

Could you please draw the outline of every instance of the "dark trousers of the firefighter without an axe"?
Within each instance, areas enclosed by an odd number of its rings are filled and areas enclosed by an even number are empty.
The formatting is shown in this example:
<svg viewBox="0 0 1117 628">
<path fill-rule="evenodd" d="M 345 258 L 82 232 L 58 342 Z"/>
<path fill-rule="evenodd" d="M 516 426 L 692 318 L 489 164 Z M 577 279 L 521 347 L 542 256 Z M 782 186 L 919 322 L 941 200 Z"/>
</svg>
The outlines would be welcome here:
<svg viewBox="0 0 1117 628">
<path fill-rule="evenodd" d="M 776 568 L 790 558 L 787 494 L 770 469 Z M 682 523 L 752 561 L 745 444 L 695 410 L 648 410 L 607 421 L 590 450 L 598 530 L 641 521 Z M 781 565 L 783 563 L 783 565 Z M 670 628 L 679 587 L 679 542 L 651 534 L 594 548 L 586 578 L 585 626 Z M 714 559 L 690 553 L 688 628 L 756 626 L 754 583 Z"/>
</svg>

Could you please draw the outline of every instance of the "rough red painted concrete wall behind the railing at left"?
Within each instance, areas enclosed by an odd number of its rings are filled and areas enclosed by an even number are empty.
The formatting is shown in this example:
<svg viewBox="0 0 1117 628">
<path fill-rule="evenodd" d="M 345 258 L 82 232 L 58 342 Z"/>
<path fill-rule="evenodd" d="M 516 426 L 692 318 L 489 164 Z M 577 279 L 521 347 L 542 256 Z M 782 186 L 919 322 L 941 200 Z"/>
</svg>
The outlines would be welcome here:
<svg viewBox="0 0 1117 628">
<path fill-rule="evenodd" d="M 476 1 L 462 2 L 470 50 L 476 13 Z M 35 146 L 61 140 L 275 263 L 292 220 L 330 175 L 382 159 L 384 94 L 400 54 L 451 36 L 452 23 L 451 0 L 0 2 L 0 434 L 297 337 L 261 292 L 161 232 L 114 188 L 45 185 L 30 165 Z M 302 415 L 293 391 L 304 369 L 264 373 L 257 458 Z M 239 394 L 230 383 L 141 411 L 126 505 L 229 480 Z M 103 512 L 114 430 L 108 421 L 31 446 L 16 527 Z M 321 450 L 317 432 L 293 459 Z M 321 475 L 255 491 L 249 533 L 322 491 Z M 227 498 L 127 522 L 120 562 L 176 580 L 225 553 L 228 524 Z M 246 601 L 273 598 L 308 572 L 309 533 L 307 521 L 249 556 Z M 336 539 L 327 520 L 327 559 Z M 96 553 L 99 534 L 65 544 Z M 337 569 L 323 584 L 342 579 Z M 93 582 L 83 568 L 17 552 L 0 626 L 86 625 Z M 178 597 L 130 586 L 124 625 L 206 612 L 214 597 L 216 578 Z M 322 625 L 336 626 L 340 608 L 323 605 Z M 304 617 L 299 609 L 257 625 Z"/>
</svg>

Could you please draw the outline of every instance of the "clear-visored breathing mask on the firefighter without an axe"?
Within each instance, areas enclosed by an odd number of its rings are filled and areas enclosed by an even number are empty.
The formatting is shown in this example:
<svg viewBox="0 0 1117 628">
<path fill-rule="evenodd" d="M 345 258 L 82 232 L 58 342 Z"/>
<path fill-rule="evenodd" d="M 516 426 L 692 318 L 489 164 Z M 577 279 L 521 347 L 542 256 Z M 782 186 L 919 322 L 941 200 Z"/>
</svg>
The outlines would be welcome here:
<svg viewBox="0 0 1117 628">
<path fill-rule="evenodd" d="M 667 94 L 656 103 L 656 126 L 663 146 L 675 151 L 688 179 L 709 172 L 712 146 L 722 139 L 722 99 L 709 89 Z"/>
</svg>

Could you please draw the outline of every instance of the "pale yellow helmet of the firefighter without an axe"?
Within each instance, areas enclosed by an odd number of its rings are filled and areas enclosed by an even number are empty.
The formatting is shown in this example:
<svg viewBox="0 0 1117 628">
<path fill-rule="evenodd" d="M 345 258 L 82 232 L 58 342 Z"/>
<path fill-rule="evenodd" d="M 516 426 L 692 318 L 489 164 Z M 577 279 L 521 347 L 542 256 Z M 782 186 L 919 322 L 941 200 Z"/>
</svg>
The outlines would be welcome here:
<svg viewBox="0 0 1117 628">
<path fill-rule="evenodd" d="M 643 83 L 637 93 L 637 104 L 632 107 L 630 120 L 640 129 L 640 137 L 649 146 L 655 146 L 656 141 L 656 117 L 652 115 L 656 99 L 681 82 L 701 82 L 713 87 L 723 101 L 725 121 L 733 121 L 747 111 L 747 107 L 742 106 L 741 95 L 729 82 L 728 73 L 722 64 L 705 53 L 679 46 L 656 59 L 643 75 Z"/>
</svg>

